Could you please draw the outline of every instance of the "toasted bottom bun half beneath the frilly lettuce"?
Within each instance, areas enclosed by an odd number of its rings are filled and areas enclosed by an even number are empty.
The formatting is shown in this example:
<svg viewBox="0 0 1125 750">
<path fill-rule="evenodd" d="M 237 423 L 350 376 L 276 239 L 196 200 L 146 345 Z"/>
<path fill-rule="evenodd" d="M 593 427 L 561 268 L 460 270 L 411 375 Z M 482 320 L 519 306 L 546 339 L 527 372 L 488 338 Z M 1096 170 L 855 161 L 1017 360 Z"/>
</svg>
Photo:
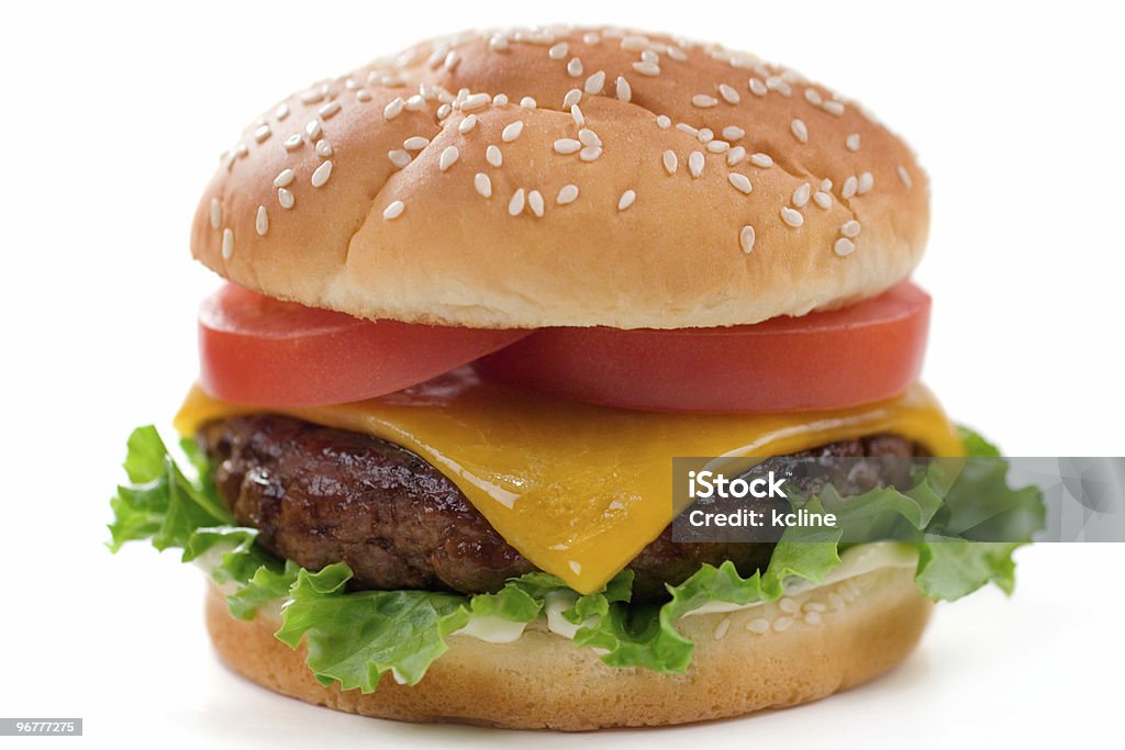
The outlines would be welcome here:
<svg viewBox="0 0 1125 750">
<path fill-rule="evenodd" d="M 515 729 L 659 726 L 808 703 L 865 683 L 910 653 L 933 604 L 911 568 L 880 568 L 775 603 L 678 623 L 695 641 L 684 675 L 608 667 L 590 649 L 529 627 L 513 643 L 449 638 L 417 685 L 385 675 L 370 694 L 325 687 L 273 638 L 278 622 L 233 618 L 215 587 L 207 626 L 232 669 L 271 690 L 366 716 Z"/>
</svg>

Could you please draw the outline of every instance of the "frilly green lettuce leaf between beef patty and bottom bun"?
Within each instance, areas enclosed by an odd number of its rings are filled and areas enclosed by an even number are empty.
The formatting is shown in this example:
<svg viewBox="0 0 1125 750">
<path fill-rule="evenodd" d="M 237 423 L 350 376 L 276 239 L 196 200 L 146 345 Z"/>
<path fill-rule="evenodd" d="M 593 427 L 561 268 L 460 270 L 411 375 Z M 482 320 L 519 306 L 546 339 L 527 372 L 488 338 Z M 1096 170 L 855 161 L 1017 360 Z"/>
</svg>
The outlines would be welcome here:
<svg viewBox="0 0 1125 750">
<path fill-rule="evenodd" d="M 980 435 L 962 431 L 970 458 L 997 458 Z M 233 616 L 252 620 L 263 606 L 281 605 L 277 638 L 304 643 L 309 669 L 324 684 L 370 692 L 390 672 L 415 684 L 447 649 L 446 639 L 472 616 L 528 623 L 539 617 L 552 594 L 570 606 L 562 616 L 578 625 L 575 644 L 602 652 L 605 663 L 662 672 L 683 672 L 694 643 L 676 630 L 688 612 L 709 604 L 746 605 L 783 596 L 793 581 L 818 585 L 839 564 L 849 543 L 838 528 L 791 527 L 775 545 L 764 571 L 741 576 L 731 562 L 703 566 L 662 604 L 632 603 L 630 570 L 603 590 L 578 595 L 544 572 L 508 580 L 495 594 L 460 596 L 435 591 L 349 591 L 352 571 L 335 563 L 320 571 L 279 560 L 256 543 L 258 532 L 234 525 L 210 480 L 207 458 L 191 441 L 181 449 L 182 470 L 155 428 L 140 427 L 128 440 L 125 471 L 129 484 L 110 500 L 109 548 L 147 540 L 158 550 L 178 548 L 184 561 L 202 563 L 212 578 L 233 590 Z M 1042 528 L 1044 508 L 1035 488 L 1011 489 L 1002 462 L 930 462 L 915 485 L 899 491 L 880 488 L 844 498 L 828 487 L 802 498 L 810 513 L 836 513 L 848 528 L 873 536 L 888 533 L 918 549 L 916 581 L 935 599 L 956 599 L 994 584 L 1010 593 L 1012 552 L 1026 543 L 976 541 L 1029 540 Z M 956 478 L 956 481 L 953 479 Z"/>
</svg>

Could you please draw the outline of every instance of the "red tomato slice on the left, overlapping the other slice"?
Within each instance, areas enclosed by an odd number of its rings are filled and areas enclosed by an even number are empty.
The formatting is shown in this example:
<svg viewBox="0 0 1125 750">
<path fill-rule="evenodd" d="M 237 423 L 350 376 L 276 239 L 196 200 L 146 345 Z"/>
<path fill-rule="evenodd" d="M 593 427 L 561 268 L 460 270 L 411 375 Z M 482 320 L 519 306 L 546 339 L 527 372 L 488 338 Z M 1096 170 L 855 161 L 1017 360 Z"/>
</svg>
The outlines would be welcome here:
<svg viewBox="0 0 1125 750">
<path fill-rule="evenodd" d="M 402 390 L 525 335 L 363 320 L 227 283 L 199 308 L 199 382 L 235 404 L 342 404 Z"/>
</svg>

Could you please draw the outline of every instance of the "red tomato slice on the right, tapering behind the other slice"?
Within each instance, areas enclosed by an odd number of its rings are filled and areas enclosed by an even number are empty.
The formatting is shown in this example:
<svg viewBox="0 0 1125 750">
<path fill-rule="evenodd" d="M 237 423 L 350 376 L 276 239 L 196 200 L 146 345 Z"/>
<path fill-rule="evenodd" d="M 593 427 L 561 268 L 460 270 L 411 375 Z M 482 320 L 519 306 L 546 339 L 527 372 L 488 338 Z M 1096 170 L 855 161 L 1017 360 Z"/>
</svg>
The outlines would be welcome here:
<svg viewBox="0 0 1125 750">
<path fill-rule="evenodd" d="M 910 282 L 838 310 L 678 331 L 543 328 L 477 362 L 484 377 L 660 412 L 868 404 L 918 379 L 929 296 Z"/>
</svg>

